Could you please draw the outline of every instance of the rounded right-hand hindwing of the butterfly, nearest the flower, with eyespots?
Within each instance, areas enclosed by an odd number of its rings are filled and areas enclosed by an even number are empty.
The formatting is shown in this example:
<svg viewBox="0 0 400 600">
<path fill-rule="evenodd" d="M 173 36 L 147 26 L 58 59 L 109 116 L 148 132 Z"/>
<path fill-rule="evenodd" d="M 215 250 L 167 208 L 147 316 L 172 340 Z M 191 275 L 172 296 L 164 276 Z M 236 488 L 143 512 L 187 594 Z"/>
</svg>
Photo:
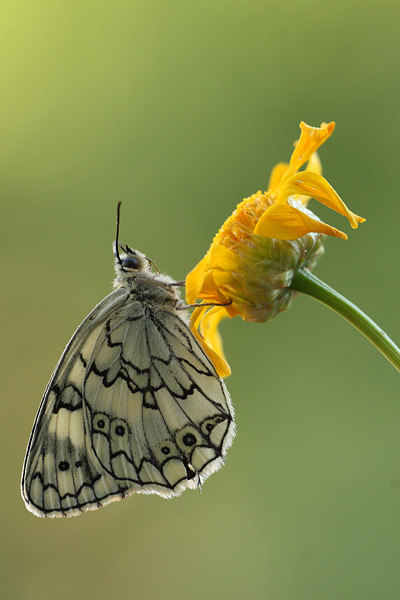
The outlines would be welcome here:
<svg viewBox="0 0 400 600">
<path fill-rule="evenodd" d="M 84 384 L 93 453 L 126 495 L 197 487 L 234 436 L 223 381 L 176 313 L 133 301 L 104 332 Z"/>
</svg>

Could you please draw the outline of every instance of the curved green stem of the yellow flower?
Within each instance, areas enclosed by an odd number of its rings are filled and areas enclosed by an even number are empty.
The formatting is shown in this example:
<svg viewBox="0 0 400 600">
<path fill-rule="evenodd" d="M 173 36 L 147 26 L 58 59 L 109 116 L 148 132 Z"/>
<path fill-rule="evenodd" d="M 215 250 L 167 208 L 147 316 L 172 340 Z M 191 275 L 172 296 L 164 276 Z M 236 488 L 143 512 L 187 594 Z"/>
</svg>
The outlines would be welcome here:
<svg viewBox="0 0 400 600">
<path fill-rule="evenodd" d="M 365 337 L 382 352 L 388 361 L 400 371 L 400 349 L 388 335 L 374 323 L 355 304 L 347 300 L 336 290 L 315 277 L 310 271 L 300 269 L 293 278 L 291 288 L 319 300 L 349 323 L 354 325 Z"/>
</svg>

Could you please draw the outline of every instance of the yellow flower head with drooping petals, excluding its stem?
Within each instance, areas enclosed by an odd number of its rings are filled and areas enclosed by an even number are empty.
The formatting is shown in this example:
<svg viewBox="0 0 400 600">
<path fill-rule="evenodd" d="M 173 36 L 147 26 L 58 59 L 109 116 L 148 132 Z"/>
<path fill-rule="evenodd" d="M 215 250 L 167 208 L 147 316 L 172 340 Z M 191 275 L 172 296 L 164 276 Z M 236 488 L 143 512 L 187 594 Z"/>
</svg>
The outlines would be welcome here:
<svg viewBox="0 0 400 600">
<path fill-rule="evenodd" d="M 197 298 L 225 304 L 199 307 L 191 320 L 192 330 L 221 376 L 230 373 L 222 358 L 221 319 L 240 315 L 245 321 L 263 322 L 285 310 L 295 293 L 290 289 L 293 276 L 300 268 L 314 267 L 325 236 L 347 239 L 307 209 L 309 199 L 346 216 L 354 229 L 365 221 L 347 208 L 321 175 L 316 150 L 335 124 L 310 127 L 302 122 L 300 128 L 289 164 L 274 167 L 267 192 L 259 191 L 237 206 L 186 278 L 189 304 Z M 299 171 L 307 161 L 306 169 Z"/>
</svg>

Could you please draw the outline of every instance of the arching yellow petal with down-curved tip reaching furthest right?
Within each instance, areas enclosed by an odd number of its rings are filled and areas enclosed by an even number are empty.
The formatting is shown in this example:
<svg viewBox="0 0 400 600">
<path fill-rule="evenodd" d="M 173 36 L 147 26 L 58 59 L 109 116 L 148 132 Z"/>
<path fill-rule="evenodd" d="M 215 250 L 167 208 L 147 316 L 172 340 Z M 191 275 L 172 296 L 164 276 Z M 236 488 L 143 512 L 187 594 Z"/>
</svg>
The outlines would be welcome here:
<svg viewBox="0 0 400 600">
<path fill-rule="evenodd" d="M 300 171 L 292 175 L 285 181 L 281 188 L 280 195 L 292 196 L 293 194 L 306 194 L 325 204 L 328 208 L 344 215 L 348 218 L 353 229 L 357 229 L 359 223 L 363 223 L 365 219 L 354 214 L 347 208 L 339 194 L 327 182 L 327 180 L 311 171 Z"/>
</svg>

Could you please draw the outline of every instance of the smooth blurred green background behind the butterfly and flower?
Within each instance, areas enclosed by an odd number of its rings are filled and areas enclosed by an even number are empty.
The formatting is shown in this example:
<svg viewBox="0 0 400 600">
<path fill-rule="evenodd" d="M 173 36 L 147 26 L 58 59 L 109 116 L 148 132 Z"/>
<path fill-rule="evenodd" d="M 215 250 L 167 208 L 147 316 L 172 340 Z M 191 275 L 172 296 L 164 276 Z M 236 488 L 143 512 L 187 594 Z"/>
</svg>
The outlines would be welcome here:
<svg viewBox="0 0 400 600">
<path fill-rule="evenodd" d="M 397 0 L 37 0 L 1 4 L 1 581 L 7 599 L 333 600 L 400 595 L 395 369 L 300 297 L 224 322 L 238 434 L 175 500 L 40 520 L 25 445 L 70 335 L 110 290 L 122 240 L 183 278 L 298 124 L 335 120 L 324 174 L 367 218 L 316 274 L 397 342 Z"/>
</svg>

